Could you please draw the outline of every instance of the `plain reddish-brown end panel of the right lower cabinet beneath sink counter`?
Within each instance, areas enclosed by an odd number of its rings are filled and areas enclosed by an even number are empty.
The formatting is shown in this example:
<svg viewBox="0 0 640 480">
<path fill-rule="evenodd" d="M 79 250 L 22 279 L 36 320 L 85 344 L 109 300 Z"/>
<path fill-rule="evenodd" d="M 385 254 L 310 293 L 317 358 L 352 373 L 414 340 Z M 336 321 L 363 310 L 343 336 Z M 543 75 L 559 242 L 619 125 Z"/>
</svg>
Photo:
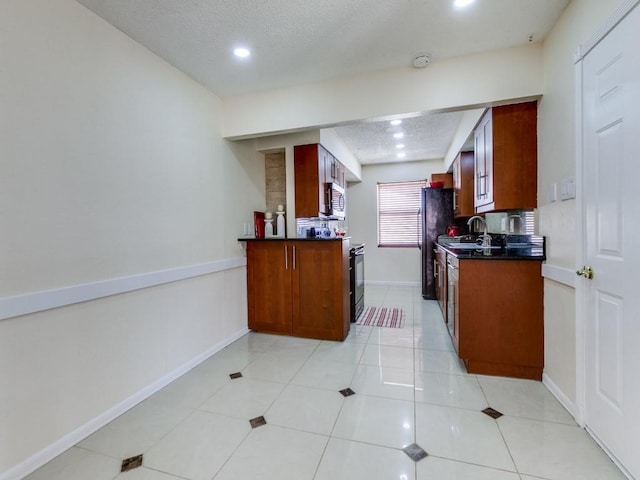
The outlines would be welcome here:
<svg viewBox="0 0 640 480">
<path fill-rule="evenodd" d="M 542 379 L 541 265 L 459 260 L 454 344 L 469 373 Z"/>
</svg>

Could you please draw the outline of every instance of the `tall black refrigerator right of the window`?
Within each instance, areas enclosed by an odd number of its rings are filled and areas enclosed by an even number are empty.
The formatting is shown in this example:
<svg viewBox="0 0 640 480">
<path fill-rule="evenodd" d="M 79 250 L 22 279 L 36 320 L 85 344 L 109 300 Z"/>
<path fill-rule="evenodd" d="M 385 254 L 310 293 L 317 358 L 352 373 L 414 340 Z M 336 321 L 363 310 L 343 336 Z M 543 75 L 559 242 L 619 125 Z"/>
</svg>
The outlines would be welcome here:
<svg viewBox="0 0 640 480">
<path fill-rule="evenodd" d="M 422 297 L 435 300 L 436 283 L 434 277 L 435 259 L 434 248 L 438 235 L 447 233 L 449 225 L 455 225 L 453 219 L 453 189 L 451 188 L 423 188 L 422 206 L 420 209 L 422 223 L 421 277 Z"/>
</svg>

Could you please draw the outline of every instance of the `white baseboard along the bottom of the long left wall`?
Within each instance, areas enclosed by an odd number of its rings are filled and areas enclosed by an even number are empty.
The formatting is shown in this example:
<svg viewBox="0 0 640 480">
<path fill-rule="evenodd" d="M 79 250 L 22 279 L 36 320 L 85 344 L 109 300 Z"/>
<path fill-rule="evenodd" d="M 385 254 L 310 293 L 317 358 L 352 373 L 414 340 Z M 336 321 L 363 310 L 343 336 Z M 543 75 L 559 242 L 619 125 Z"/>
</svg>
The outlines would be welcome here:
<svg viewBox="0 0 640 480">
<path fill-rule="evenodd" d="M 205 352 L 192 358 L 191 360 L 181 365 L 177 369 L 173 370 L 172 372 L 169 372 L 168 374 L 159 378 L 158 380 L 151 383 L 150 385 L 147 385 L 146 387 L 137 391 L 136 393 L 131 395 L 129 398 L 126 398 L 119 404 L 114 405 L 109 410 L 101 413 L 100 415 L 90 420 L 89 422 L 85 423 L 81 427 L 68 433 L 64 437 L 58 439 L 48 447 L 40 450 L 38 453 L 35 453 L 31 457 L 27 458 L 25 461 L 12 467 L 6 472 L 0 473 L 0 480 L 20 480 L 26 477 L 30 473 L 36 471 L 38 468 L 46 464 L 47 462 L 50 462 L 58 455 L 64 453 L 66 450 L 76 445 L 81 440 L 84 440 L 86 437 L 88 437 L 92 433 L 104 427 L 107 423 L 116 419 L 127 410 L 133 408 L 138 403 L 149 398 L 151 395 L 156 393 L 161 388 L 166 387 L 175 379 L 179 378 L 180 376 L 184 375 L 195 366 L 204 362 L 207 358 L 211 357 L 212 355 L 219 352 L 226 346 L 230 345 L 231 343 L 235 342 L 239 338 L 243 337 L 244 335 L 249 333 L 249 331 L 250 330 L 248 328 L 243 328 L 237 331 L 236 333 L 234 333 L 233 335 L 230 335 L 224 340 L 216 343 L 214 346 L 212 346 Z"/>
</svg>

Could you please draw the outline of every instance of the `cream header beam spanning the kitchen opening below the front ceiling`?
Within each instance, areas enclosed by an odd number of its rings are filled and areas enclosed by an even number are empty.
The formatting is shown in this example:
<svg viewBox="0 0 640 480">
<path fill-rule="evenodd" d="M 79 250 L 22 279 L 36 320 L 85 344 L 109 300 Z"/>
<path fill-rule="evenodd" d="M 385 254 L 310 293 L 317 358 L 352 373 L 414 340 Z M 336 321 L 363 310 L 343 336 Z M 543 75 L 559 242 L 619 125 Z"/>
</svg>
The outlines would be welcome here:
<svg viewBox="0 0 640 480">
<path fill-rule="evenodd" d="M 223 135 L 246 138 L 541 94 L 542 47 L 532 44 L 433 61 L 425 69 L 385 70 L 227 98 Z"/>
</svg>

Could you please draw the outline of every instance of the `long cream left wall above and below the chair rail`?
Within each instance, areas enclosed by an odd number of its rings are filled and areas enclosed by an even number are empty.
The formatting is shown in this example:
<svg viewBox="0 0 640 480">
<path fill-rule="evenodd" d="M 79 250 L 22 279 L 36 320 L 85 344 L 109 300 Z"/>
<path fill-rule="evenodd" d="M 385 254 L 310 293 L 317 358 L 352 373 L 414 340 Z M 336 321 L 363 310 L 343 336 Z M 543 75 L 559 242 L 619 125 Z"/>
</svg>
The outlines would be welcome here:
<svg viewBox="0 0 640 480">
<path fill-rule="evenodd" d="M 217 97 L 73 0 L 4 0 L 0 31 L 0 313 L 242 265 L 264 163 L 222 140 Z M 245 332 L 245 305 L 240 266 L 0 320 L 0 478 Z"/>
</svg>

